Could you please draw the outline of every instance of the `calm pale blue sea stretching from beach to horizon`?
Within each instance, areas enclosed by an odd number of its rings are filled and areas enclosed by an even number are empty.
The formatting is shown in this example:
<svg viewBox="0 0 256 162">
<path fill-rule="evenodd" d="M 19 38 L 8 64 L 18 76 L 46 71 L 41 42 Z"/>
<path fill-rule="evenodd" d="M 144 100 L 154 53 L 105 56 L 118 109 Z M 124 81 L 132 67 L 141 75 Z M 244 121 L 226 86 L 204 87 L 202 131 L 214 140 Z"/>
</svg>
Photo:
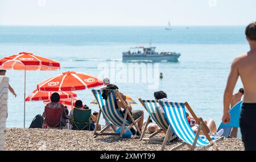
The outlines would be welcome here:
<svg viewBox="0 0 256 162">
<path fill-rule="evenodd" d="M 27 72 L 26 95 L 29 95 L 40 81 L 68 70 L 98 76 L 102 70 L 98 69 L 99 64 L 122 63 L 123 51 L 148 46 L 151 41 L 158 52 L 180 52 L 179 62 L 159 64 L 163 80 L 159 80 L 157 89 L 148 89 L 148 84 L 121 83 L 117 84 L 119 90 L 137 102 L 140 97 L 154 99 L 156 90 L 164 90 L 171 101 L 187 101 L 198 116 L 213 118 L 218 126 L 230 64 L 234 57 L 249 49 L 244 30 L 243 26 L 173 27 L 170 31 L 164 27 L 0 26 L 0 57 L 26 51 L 60 62 L 60 71 Z M 24 73 L 9 70 L 7 76 L 18 95 L 14 98 L 9 93 L 7 127 L 23 127 Z M 241 85 L 238 81 L 236 90 Z M 92 111 L 98 110 L 97 105 L 89 103 L 94 99 L 90 90 L 75 93 Z M 139 102 L 133 108 L 143 109 Z M 27 102 L 26 127 L 43 110 L 43 102 Z M 104 124 L 103 120 L 100 122 Z"/>
</svg>

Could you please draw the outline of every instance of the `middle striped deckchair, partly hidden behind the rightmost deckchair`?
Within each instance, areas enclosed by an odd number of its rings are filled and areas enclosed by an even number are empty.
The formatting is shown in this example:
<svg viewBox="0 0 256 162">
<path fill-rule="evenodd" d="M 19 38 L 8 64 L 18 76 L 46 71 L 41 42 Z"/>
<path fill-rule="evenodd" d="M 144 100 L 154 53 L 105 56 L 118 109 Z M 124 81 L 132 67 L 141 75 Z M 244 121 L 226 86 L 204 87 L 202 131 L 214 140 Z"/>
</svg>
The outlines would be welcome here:
<svg viewBox="0 0 256 162">
<path fill-rule="evenodd" d="M 159 134 L 163 130 L 167 132 L 167 129 L 169 126 L 169 123 L 168 123 L 167 119 L 165 118 L 165 115 L 159 109 L 159 103 L 155 100 L 142 100 L 141 98 L 139 98 L 139 102 L 141 102 L 142 106 L 144 107 L 144 109 L 146 109 L 146 111 L 149 114 L 140 140 L 163 141 L 163 139 L 161 139 L 161 138 L 154 138 L 155 135 Z M 146 128 L 148 126 L 150 119 L 153 119 L 153 121 L 155 121 L 155 123 L 158 124 L 159 129 L 157 131 L 155 131 L 154 133 L 152 133 L 150 136 L 148 136 L 148 138 L 144 138 Z M 173 140 L 175 138 L 176 138 L 176 135 L 170 134 L 168 142 L 170 142 L 171 140 Z"/>
</svg>

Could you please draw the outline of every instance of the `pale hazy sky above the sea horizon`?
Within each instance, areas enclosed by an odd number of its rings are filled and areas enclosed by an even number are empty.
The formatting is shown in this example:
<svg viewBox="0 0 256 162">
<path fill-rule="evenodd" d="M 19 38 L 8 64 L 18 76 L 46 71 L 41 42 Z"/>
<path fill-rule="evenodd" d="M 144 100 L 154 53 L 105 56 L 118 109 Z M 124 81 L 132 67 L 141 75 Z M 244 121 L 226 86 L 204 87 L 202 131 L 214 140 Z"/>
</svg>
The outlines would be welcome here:
<svg viewBox="0 0 256 162">
<path fill-rule="evenodd" d="M 255 0 L 0 0 L 0 25 L 245 26 L 255 8 Z"/>
</svg>

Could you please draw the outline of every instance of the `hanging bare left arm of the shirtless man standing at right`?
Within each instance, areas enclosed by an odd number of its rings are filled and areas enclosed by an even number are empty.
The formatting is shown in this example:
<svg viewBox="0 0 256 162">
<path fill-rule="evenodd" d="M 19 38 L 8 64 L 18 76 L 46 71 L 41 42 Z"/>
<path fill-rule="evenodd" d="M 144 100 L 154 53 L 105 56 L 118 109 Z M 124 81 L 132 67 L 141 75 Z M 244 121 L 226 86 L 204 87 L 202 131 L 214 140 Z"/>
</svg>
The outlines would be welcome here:
<svg viewBox="0 0 256 162">
<path fill-rule="evenodd" d="M 230 121 L 230 114 L 229 114 L 229 106 L 232 101 L 232 95 L 234 87 L 236 86 L 238 80 L 238 59 L 235 59 L 232 63 L 231 70 L 228 77 L 228 82 L 226 84 L 225 92 L 224 92 L 224 110 L 223 110 L 223 123 L 229 123 Z"/>
</svg>

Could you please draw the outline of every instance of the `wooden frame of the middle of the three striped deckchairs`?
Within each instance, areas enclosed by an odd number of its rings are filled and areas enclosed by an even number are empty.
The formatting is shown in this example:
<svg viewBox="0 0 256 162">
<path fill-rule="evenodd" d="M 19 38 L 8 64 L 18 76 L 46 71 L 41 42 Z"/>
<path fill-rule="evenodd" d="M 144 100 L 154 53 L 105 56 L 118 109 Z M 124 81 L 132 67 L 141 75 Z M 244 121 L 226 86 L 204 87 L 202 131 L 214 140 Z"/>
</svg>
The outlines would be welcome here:
<svg viewBox="0 0 256 162">
<path fill-rule="evenodd" d="M 143 106 L 144 109 L 147 111 L 147 107 L 146 107 L 146 105 L 144 104 L 144 102 L 142 101 L 141 98 L 139 98 L 139 102 L 141 102 L 142 106 Z M 147 112 L 148 112 L 148 111 L 147 111 Z M 150 113 L 150 112 L 148 112 L 148 113 Z M 150 136 L 148 136 L 147 138 L 144 137 L 144 136 L 145 136 L 145 133 L 146 133 L 146 128 L 147 128 L 147 126 L 148 126 L 148 124 L 149 124 L 150 119 L 151 119 L 151 116 L 148 115 L 146 124 L 145 124 L 145 126 L 144 126 L 144 130 L 142 131 L 142 135 L 141 135 L 141 138 L 140 138 L 139 140 L 146 140 L 146 141 L 148 141 L 148 142 L 149 142 L 150 140 L 155 140 L 155 141 L 163 142 L 165 138 L 164 138 L 164 139 L 162 139 L 162 138 L 154 138 L 154 136 L 158 135 L 161 131 L 166 131 L 166 130 L 164 130 L 163 128 L 159 128 L 157 131 L 155 131 L 154 133 L 152 133 L 152 134 L 151 134 Z M 168 130 L 167 130 L 167 131 L 168 131 Z M 166 136 L 168 136 L 168 138 L 166 139 L 166 142 L 171 142 L 171 140 L 175 139 L 177 136 L 176 136 L 176 135 L 173 135 L 173 136 L 172 136 L 173 132 L 170 132 L 170 134 L 167 134 L 167 131 L 166 131 Z"/>
</svg>

